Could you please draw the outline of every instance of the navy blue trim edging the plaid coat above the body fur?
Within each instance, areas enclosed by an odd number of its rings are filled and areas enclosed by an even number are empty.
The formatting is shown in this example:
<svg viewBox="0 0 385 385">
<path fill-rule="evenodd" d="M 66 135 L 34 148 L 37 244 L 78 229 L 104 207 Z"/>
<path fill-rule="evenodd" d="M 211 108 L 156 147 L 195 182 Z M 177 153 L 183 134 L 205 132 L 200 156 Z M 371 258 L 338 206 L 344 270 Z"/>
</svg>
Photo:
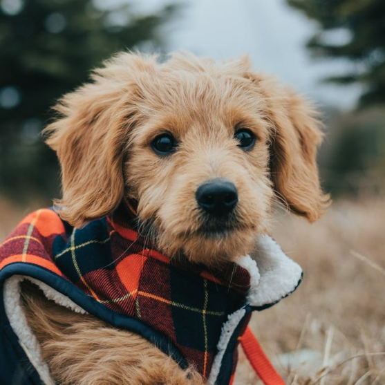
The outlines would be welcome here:
<svg viewBox="0 0 385 385">
<path fill-rule="evenodd" d="M 35 278 L 43 283 L 46 283 L 51 288 L 57 290 L 57 292 L 60 292 L 64 294 L 66 297 L 68 297 L 69 299 L 71 299 L 78 306 L 86 310 L 86 312 L 94 315 L 97 318 L 102 319 L 103 321 L 106 321 L 107 323 L 110 323 L 112 326 L 115 326 L 116 328 L 129 330 L 131 332 L 135 332 L 141 335 L 142 337 L 144 337 L 145 339 L 147 339 L 148 341 L 151 341 L 154 345 L 156 345 L 160 350 L 162 350 L 162 352 L 164 352 L 165 354 L 173 358 L 174 361 L 176 361 L 179 364 L 180 368 L 182 368 L 183 370 L 188 368 L 187 361 L 180 353 L 180 350 L 175 346 L 175 344 L 173 344 L 169 340 L 167 336 L 162 335 L 162 333 L 158 332 L 157 330 L 154 330 L 153 328 L 151 328 L 151 326 L 148 326 L 147 324 L 145 324 L 144 322 L 138 319 L 135 319 L 133 317 L 129 317 L 123 314 L 119 314 L 117 312 L 113 312 L 113 310 L 109 310 L 109 308 L 106 308 L 106 306 L 104 306 L 102 303 L 97 302 L 95 299 L 93 299 L 93 297 L 89 297 L 86 294 L 84 294 L 84 292 L 82 292 L 82 290 L 80 290 L 75 285 L 73 285 L 73 283 L 67 281 L 61 276 L 58 276 L 54 272 L 47 270 L 44 267 L 33 265 L 31 263 L 24 263 L 24 262 L 10 263 L 10 265 L 6 265 L 0 271 L 0 294 L 1 294 L 0 320 L 1 320 L 1 326 L 3 326 L 3 328 L 9 327 L 12 330 L 12 328 L 10 327 L 8 318 L 6 317 L 6 312 L 3 304 L 3 294 L 2 294 L 3 283 L 6 279 L 10 278 L 10 276 L 16 275 L 16 274 L 22 275 L 22 276 L 30 276 L 31 278 Z M 14 341 L 17 341 L 17 337 L 13 331 L 11 335 L 12 335 L 12 339 Z M 17 345 L 19 346 L 19 344 Z M 21 349 L 20 346 L 19 348 Z M 22 355 L 24 356 L 23 358 L 26 358 L 26 355 L 24 352 L 22 353 Z M 6 359 L 6 357 L 1 357 L 1 358 Z M 33 382 L 31 384 L 35 385 L 39 383 Z"/>
</svg>

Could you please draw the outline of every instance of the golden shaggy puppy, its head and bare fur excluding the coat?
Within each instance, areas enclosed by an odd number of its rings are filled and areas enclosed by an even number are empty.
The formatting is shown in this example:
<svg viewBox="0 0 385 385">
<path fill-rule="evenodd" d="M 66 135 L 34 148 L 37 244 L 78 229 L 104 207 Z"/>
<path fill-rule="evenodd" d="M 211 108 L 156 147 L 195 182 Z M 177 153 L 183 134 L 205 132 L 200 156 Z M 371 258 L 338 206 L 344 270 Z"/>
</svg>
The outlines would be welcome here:
<svg viewBox="0 0 385 385">
<path fill-rule="evenodd" d="M 138 232 L 156 250 L 215 269 L 256 254 L 274 203 L 310 222 L 330 203 L 317 170 L 317 113 L 247 57 L 120 53 L 55 111 L 44 131 L 62 167 L 55 210 L 77 229 L 133 203 Z M 141 335 L 58 306 L 30 281 L 21 289 L 55 383 L 206 383 Z"/>
</svg>

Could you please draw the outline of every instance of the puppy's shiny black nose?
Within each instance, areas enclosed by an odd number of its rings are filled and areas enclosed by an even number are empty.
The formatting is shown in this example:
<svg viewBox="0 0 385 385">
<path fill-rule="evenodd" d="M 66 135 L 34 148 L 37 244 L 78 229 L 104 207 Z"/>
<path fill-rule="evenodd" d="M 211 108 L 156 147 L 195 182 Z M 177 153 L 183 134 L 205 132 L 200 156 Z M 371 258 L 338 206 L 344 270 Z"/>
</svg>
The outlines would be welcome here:
<svg viewBox="0 0 385 385">
<path fill-rule="evenodd" d="M 226 216 L 238 202 L 238 191 L 232 182 L 212 179 L 198 187 L 196 201 L 199 207 L 213 216 Z"/>
</svg>

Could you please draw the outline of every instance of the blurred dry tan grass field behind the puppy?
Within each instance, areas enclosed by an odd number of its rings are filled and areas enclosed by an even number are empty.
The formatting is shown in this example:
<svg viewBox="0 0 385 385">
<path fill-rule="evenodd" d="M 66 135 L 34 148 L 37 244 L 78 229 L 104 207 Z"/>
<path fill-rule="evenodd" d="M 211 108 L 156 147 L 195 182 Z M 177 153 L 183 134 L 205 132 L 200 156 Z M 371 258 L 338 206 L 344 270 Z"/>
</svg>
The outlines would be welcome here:
<svg viewBox="0 0 385 385">
<path fill-rule="evenodd" d="M 0 200 L 0 239 L 38 205 Z M 252 328 L 288 384 L 385 384 L 384 214 L 384 201 L 361 200 L 334 203 L 313 225 L 276 216 L 274 237 L 304 280 Z M 256 383 L 241 355 L 236 384 Z"/>
</svg>

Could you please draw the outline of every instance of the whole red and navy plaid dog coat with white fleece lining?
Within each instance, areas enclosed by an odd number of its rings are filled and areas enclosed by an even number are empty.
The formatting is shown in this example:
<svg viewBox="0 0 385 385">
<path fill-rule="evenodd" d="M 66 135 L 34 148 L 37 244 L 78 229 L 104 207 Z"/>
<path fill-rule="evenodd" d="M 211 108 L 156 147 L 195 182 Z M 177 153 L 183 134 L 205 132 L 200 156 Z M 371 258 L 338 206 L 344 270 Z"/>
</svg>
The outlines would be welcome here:
<svg viewBox="0 0 385 385">
<path fill-rule="evenodd" d="M 138 332 L 182 368 L 195 366 L 210 383 L 227 384 L 250 312 L 295 290 L 301 268 L 268 236 L 259 238 L 253 259 L 215 269 L 170 260 L 136 224 L 129 203 L 82 229 L 52 209 L 20 223 L 0 246 L 3 306 L 19 345 L 39 377 L 53 383 L 21 306 L 19 283 L 30 279 L 59 305 Z"/>
</svg>

